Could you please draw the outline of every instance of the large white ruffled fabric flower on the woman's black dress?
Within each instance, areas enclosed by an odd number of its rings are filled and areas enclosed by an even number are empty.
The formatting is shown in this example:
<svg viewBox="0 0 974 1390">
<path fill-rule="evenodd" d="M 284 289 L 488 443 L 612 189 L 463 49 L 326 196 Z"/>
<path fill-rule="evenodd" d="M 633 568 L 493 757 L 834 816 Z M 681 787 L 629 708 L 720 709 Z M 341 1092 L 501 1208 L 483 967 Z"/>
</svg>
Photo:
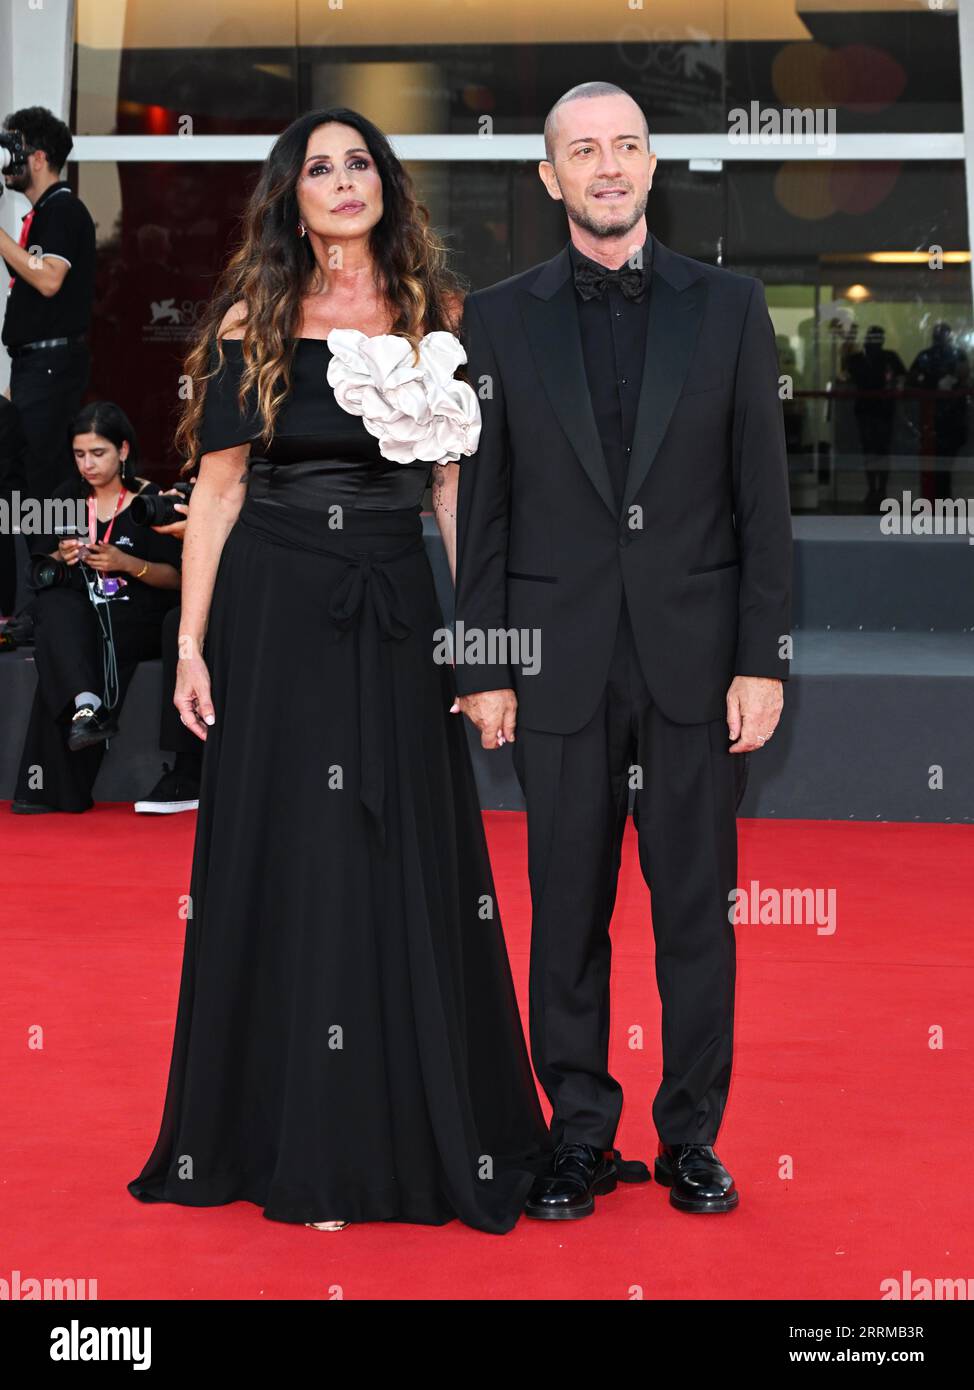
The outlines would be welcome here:
<svg viewBox="0 0 974 1390">
<path fill-rule="evenodd" d="M 420 339 L 420 360 L 397 334 L 370 338 L 357 328 L 332 328 L 328 384 L 349 414 L 361 416 L 379 453 L 393 463 L 456 463 L 481 438 L 477 395 L 453 373 L 467 361 L 453 334 Z"/>
</svg>

